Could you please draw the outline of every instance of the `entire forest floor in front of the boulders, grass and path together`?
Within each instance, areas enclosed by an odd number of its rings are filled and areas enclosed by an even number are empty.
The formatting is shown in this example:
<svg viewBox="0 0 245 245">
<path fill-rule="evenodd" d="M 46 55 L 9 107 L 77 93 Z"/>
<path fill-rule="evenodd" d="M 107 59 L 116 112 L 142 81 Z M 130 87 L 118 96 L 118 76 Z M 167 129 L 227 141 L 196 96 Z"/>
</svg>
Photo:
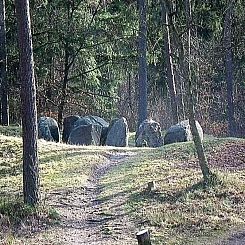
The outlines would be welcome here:
<svg viewBox="0 0 245 245">
<path fill-rule="evenodd" d="M 150 230 L 153 245 L 245 244 L 244 140 L 204 142 L 221 180 L 208 187 L 191 143 L 123 149 L 41 141 L 42 200 L 52 218 L 12 227 L 4 221 L 7 209 L 20 215 L 10 208 L 21 192 L 20 142 L 0 137 L 0 244 L 136 245 L 141 229 Z"/>
</svg>

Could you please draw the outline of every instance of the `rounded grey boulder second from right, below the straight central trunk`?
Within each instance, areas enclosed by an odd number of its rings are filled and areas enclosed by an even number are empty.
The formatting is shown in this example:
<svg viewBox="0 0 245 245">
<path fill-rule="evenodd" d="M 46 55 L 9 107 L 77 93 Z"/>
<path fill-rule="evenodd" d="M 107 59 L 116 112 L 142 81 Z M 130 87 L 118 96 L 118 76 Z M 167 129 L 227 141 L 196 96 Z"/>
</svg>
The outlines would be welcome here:
<svg viewBox="0 0 245 245">
<path fill-rule="evenodd" d="M 152 119 L 144 120 L 136 133 L 135 145 L 137 147 L 160 147 L 163 145 L 161 126 Z"/>
</svg>

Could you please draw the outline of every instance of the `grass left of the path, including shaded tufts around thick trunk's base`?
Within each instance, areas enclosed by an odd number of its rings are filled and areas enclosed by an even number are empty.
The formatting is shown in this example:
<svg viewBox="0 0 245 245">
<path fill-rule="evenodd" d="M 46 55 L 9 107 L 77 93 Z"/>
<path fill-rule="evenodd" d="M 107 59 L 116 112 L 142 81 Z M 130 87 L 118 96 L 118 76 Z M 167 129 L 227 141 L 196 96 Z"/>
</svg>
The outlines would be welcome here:
<svg viewBox="0 0 245 245">
<path fill-rule="evenodd" d="M 23 204 L 22 139 L 6 136 L 7 127 L 1 127 L 0 132 L 2 131 L 4 134 L 0 134 L 0 230 L 3 227 L 9 227 L 11 230 L 11 227 L 21 221 L 40 219 L 42 216 L 45 216 L 46 220 L 57 219 L 56 211 L 45 207 L 43 201 L 37 209 Z M 105 162 L 108 154 L 113 151 L 106 147 L 80 147 L 38 140 L 41 196 L 45 198 L 53 191 L 84 187 L 92 169 Z M 0 243 L 4 233 L 0 232 Z M 10 233 L 8 244 L 14 242 L 11 237 Z"/>
</svg>

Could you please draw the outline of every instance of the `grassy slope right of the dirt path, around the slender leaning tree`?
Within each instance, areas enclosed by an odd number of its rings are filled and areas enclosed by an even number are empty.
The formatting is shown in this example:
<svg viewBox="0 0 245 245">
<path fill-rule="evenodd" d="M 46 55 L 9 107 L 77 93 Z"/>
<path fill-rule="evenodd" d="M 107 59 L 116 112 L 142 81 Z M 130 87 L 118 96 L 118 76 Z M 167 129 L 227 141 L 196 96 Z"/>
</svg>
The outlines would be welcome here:
<svg viewBox="0 0 245 245">
<path fill-rule="evenodd" d="M 211 139 L 205 148 L 211 160 L 227 144 L 244 143 Z M 154 244 L 213 244 L 226 230 L 245 224 L 245 166 L 233 171 L 216 165 L 222 183 L 203 188 L 192 143 L 144 148 L 103 179 L 102 198 L 127 193 L 125 208 L 139 227 L 150 228 Z M 148 192 L 152 180 L 157 190 Z"/>
</svg>

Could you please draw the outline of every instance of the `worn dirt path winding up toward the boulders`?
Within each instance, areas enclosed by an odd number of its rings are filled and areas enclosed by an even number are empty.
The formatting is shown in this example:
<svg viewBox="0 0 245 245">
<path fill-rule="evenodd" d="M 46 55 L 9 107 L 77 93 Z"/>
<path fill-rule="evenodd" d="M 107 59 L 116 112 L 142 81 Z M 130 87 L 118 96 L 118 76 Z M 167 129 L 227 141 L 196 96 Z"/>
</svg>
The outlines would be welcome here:
<svg viewBox="0 0 245 245">
<path fill-rule="evenodd" d="M 51 193 L 47 202 L 61 215 L 59 224 L 22 239 L 22 244 L 137 244 L 136 228 L 121 208 L 125 198 L 98 199 L 102 188 L 99 180 L 130 156 L 130 153 L 111 155 L 106 163 L 94 170 L 83 189 Z"/>
</svg>

